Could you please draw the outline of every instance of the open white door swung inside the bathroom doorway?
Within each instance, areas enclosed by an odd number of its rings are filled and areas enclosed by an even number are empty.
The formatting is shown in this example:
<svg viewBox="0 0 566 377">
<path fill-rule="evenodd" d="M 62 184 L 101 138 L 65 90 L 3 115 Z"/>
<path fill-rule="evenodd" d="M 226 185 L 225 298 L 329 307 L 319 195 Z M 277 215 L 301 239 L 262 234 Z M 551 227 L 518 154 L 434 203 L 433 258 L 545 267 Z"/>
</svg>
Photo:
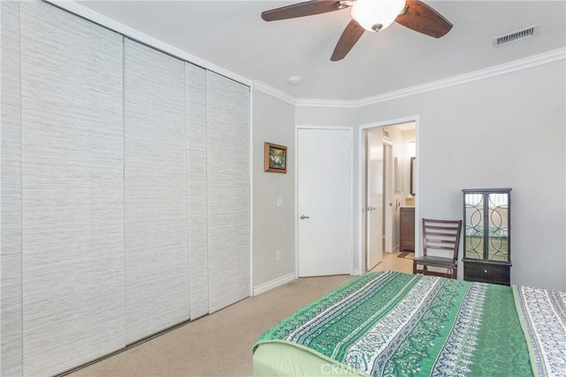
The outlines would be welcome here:
<svg viewBox="0 0 566 377">
<path fill-rule="evenodd" d="M 381 132 L 381 128 L 379 128 Z M 378 132 L 378 134 L 379 134 Z M 383 218 L 383 136 L 372 131 L 366 142 L 366 268 L 370 271 L 381 262 L 381 235 Z"/>
</svg>

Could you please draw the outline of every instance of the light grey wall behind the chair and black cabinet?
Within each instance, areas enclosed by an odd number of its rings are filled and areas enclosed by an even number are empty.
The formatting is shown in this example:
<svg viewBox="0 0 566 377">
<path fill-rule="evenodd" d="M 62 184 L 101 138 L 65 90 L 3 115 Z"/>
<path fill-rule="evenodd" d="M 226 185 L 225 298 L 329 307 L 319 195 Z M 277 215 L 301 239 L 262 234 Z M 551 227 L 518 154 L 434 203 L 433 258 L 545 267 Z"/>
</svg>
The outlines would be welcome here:
<svg viewBox="0 0 566 377">
<path fill-rule="evenodd" d="M 463 188 L 513 188 L 511 283 L 562 291 L 565 72 L 560 60 L 371 104 L 359 109 L 357 119 L 368 124 L 419 117 L 421 218 L 462 219 Z"/>
</svg>

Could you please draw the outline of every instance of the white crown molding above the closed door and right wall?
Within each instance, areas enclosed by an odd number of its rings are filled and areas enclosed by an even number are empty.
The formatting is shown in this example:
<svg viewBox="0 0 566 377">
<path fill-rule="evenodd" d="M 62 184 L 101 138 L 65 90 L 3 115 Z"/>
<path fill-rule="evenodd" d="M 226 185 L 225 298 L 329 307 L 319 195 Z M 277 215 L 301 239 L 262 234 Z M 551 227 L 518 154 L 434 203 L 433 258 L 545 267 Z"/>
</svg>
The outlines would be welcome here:
<svg viewBox="0 0 566 377">
<path fill-rule="evenodd" d="M 393 99 L 402 98 L 405 96 L 415 96 L 421 93 L 438 90 L 442 88 L 449 88 L 455 85 L 465 84 L 471 81 L 484 80 L 493 76 L 499 76 L 506 73 L 512 73 L 523 69 L 532 68 L 538 65 L 545 65 L 558 60 L 566 59 L 566 48 L 551 50 L 542 54 L 533 55 L 529 58 L 522 58 L 504 63 L 501 65 L 493 65 L 489 68 L 480 69 L 470 73 L 463 73 L 457 76 L 449 77 L 438 81 L 427 82 L 422 85 L 414 87 L 403 88 L 384 93 L 377 96 L 370 96 L 359 100 L 325 100 L 325 99 L 308 99 L 298 98 L 296 100 L 297 106 L 305 107 L 342 107 L 342 108 L 357 108 L 370 104 L 379 104 L 381 102 L 391 101 Z"/>
</svg>

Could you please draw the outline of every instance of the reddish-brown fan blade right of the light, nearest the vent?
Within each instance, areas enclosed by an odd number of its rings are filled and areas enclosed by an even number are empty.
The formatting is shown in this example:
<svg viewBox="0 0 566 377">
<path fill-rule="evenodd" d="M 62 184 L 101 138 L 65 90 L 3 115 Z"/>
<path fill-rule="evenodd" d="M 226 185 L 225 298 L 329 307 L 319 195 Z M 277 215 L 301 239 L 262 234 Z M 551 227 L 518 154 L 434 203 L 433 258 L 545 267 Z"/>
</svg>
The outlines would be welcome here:
<svg viewBox="0 0 566 377">
<path fill-rule="evenodd" d="M 419 0 L 407 0 L 405 12 L 397 16 L 395 22 L 434 38 L 446 35 L 452 28 L 450 21 Z"/>
</svg>

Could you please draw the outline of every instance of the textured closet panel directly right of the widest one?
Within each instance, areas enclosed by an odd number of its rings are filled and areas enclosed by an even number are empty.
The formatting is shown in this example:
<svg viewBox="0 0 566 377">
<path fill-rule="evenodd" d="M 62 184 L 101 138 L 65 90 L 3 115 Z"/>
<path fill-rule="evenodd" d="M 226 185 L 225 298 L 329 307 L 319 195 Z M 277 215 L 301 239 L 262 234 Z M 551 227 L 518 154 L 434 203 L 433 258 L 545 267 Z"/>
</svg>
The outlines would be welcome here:
<svg viewBox="0 0 566 377">
<path fill-rule="evenodd" d="M 125 40 L 126 342 L 189 318 L 185 65 Z"/>
</svg>

